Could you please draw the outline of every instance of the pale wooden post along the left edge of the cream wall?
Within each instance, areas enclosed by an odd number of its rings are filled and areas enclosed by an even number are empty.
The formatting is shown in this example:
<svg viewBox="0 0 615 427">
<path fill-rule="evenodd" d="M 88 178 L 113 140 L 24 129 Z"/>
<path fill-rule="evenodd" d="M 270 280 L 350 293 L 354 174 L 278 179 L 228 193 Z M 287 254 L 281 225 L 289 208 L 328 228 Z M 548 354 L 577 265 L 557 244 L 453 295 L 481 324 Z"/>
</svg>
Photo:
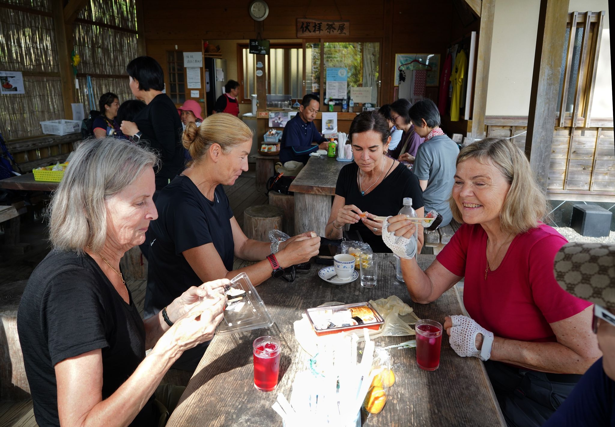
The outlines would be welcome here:
<svg viewBox="0 0 615 427">
<path fill-rule="evenodd" d="M 489 65 L 491 61 L 491 38 L 493 36 L 493 18 L 495 0 L 483 0 L 480 9 L 480 32 L 476 60 L 476 77 L 474 88 L 474 105 L 472 106 L 471 138 L 482 139 L 485 135 L 485 112 L 487 107 L 487 85 L 489 82 Z"/>
</svg>

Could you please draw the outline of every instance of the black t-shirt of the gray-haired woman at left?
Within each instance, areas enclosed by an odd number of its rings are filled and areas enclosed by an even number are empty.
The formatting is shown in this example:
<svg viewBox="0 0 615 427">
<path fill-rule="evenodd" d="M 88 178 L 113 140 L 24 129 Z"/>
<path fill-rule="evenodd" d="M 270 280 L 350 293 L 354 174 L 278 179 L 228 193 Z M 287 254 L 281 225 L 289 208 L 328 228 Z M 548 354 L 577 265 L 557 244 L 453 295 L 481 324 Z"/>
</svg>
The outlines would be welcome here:
<svg viewBox="0 0 615 427">
<path fill-rule="evenodd" d="M 40 426 L 60 426 L 54 366 L 101 349 L 103 399 L 113 394 L 145 358 L 145 326 L 130 294 L 126 304 L 87 254 L 51 251 L 34 269 L 17 312 L 34 416 Z M 87 372 L 83 381 L 88 381 Z M 154 396 L 131 426 L 154 425 Z"/>
</svg>

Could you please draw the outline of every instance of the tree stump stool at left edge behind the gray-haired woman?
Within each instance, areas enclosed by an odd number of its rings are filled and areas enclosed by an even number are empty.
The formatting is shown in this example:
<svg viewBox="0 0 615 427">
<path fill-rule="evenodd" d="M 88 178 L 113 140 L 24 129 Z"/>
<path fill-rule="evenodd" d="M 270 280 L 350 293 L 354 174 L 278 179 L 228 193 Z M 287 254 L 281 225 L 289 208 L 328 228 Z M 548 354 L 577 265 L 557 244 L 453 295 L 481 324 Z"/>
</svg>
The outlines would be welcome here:
<svg viewBox="0 0 615 427">
<path fill-rule="evenodd" d="M 22 346 L 17 335 L 17 308 L 27 280 L 0 285 L 0 399 L 31 399 L 23 364 Z"/>
</svg>

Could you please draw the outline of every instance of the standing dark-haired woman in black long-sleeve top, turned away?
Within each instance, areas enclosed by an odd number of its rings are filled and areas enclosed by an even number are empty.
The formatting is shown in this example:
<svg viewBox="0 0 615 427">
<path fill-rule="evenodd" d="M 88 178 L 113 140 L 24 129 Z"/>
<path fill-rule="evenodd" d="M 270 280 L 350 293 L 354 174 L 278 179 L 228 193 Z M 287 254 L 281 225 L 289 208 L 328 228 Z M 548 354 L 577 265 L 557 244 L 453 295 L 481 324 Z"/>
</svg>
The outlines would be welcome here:
<svg viewBox="0 0 615 427">
<path fill-rule="evenodd" d="M 185 168 L 180 116 L 171 98 L 162 93 L 164 74 L 154 58 L 135 58 L 126 71 L 130 90 L 147 106 L 135 116 L 134 122 L 124 120 L 121 129 L 124 135 L 143 141 L 159 153 L 161 166 L 156 170 L 156 190 L 162 190 Z"/>
</svg>

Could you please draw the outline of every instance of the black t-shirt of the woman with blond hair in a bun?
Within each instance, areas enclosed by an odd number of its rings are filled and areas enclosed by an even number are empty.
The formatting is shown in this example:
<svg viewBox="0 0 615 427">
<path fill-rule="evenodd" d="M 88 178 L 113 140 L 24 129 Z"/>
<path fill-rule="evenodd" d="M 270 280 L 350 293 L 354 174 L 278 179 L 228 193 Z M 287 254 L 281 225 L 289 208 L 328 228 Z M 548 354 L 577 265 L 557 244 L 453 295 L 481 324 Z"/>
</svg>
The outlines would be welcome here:
<svg viewBox="0 0 615 427">
<path fill-rule="evenodd" d="M 170 304 L 190 286 L 202 281 L 183 256 L 183 251 L 213 243 L 224 267 L 232 270 L 229 200 L 221 185 L 208 200 L 188 176 L 179 175 L 156 199 L 158 219 L 149 225 L 148 286 L 145 318 Z"/>
</svg>

